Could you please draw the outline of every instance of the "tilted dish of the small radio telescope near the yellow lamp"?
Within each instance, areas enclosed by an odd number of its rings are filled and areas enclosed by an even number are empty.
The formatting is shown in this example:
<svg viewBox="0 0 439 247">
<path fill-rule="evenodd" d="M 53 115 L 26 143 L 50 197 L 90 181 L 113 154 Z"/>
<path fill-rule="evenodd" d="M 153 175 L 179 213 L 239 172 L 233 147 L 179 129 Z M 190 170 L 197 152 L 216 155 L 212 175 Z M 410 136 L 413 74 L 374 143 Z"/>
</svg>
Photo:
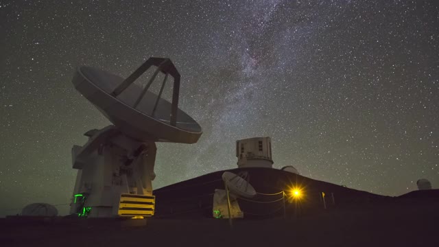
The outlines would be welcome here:
<svg viewBox="0 0 439 247">
<path fill-rule="evenodd" d="M 239 176 L 231 172 L 224 172 L 222 174 L 222 180 L 226 183 L 230 193 L 234 193 L 238 196 L 245 198 L 252 198 L 256 196 L 256 191 L 246 180 L 247 174 Z"/>
</svg>

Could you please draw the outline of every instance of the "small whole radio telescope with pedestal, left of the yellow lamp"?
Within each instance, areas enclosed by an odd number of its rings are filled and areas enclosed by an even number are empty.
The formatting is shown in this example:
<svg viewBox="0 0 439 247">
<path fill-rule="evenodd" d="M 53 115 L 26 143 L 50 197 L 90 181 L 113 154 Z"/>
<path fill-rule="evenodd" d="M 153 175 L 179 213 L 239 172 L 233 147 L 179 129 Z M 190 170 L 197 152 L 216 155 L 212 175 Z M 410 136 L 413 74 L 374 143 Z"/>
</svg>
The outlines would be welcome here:
<svg viewBox="0 0 439 247">
<path fill-rule="evenodd" d="M 256 196 L 256 191 L 246 180 L 248 173 L 233 174 L 232 172 L 224 172 L 222 180 L 224 180 L 224 189 L 215 189 L 213 195 L 213 217 L 223 218 L 243 218 L 244 213 L 239 208 L 237 198 L 252 198 Z"/>
</svg>

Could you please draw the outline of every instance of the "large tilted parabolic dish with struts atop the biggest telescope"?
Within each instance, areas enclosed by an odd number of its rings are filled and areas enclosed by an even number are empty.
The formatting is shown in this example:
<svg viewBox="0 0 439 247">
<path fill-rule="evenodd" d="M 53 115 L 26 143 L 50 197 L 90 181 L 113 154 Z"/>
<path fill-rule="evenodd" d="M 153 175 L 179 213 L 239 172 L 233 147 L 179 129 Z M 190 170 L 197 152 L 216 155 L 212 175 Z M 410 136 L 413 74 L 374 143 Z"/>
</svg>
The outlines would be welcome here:
<svg viewBox="0 0 439 247">
<path fill-rule="evenodd" d="M 156 71 L 145 87 L 134 84 L 147 69 Z M 148 91 L 158 73 L 164 73 L 161 91 Z M 172 102 L 161 97 L 168 75 L 174 78 Z M 92 67 L 78 67 L 73 84 L 124 134 L 139 141 L 195 143 L 200 125 L 178 108 L 180 73 L 168 58 L 150 58 L 125 80 Z"/>
</svg>

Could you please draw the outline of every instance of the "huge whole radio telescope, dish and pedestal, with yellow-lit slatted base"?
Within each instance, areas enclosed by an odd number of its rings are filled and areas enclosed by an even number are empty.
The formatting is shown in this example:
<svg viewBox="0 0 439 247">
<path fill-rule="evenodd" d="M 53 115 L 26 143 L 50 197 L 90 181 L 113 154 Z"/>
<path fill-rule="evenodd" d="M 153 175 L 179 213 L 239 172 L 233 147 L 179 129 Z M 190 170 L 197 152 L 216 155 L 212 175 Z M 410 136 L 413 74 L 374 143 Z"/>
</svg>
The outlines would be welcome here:
<svg viewBox="0 0 439 247">
<path fill-rule="evenodd" d="M 147 84 L 133 82 L 156 67 Z M 158 73 L 165 75 L 158 95 L 148 91 Z M 169 75 L 172 100 L 161 96 Z M 178 108 L 180 73 L 168 58 L 149 58 L 125 80 L 92 67 L 79 67 L 73 85 L 112 125 L 89 130 L 85 145 L 72 148 L 78 169 L 71 213 L 88 217 L 154 215 L 152 180 L 156 142 L 195 143 L 200 125 Z"/>
</svg>

